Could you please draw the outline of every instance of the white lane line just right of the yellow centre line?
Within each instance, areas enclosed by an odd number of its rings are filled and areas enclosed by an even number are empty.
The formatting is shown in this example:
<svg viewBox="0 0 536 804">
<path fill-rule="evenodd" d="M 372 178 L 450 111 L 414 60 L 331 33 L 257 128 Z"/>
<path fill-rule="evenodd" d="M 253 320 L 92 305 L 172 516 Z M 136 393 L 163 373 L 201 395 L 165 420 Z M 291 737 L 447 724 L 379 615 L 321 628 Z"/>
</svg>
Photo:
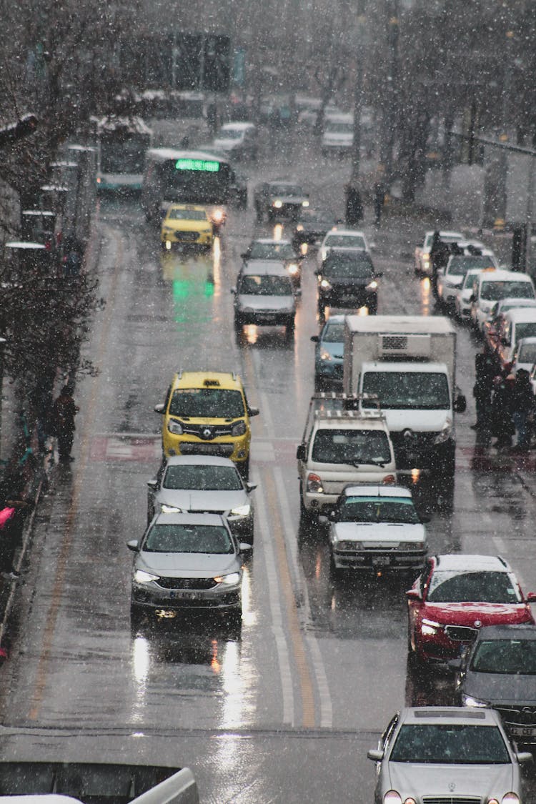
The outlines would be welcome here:
<svg viewBox="0 0 536 804">
<path fill-rule="evenodd" d="M 307 613 L 309 613 L 309 595 L 307 593 L 307 585 L 303 580 L 301 580 L 300 566 L 297 556 L 296 523 L 294 522 L 290 513 L 288 494 L 284 484 L 283 474 L 279 466 L 274 467 L 273 474 L 276 481 L 277 496 L 280 501 L 281 521 L 284 527 L 284 541 L 287 548 L 287 555 L 291 563 L 294 584 L 299 589 L 301 600 L 304 602 Z M 291 536 L 292 538 L 290 538 Z M 331 704 L 329 684 L 327 675 L 325 674 L 321 650 L 318 646 L 317 638 L 315 638 L 313 634 L 307 634 L 305 640 L 309 646 L 314 677 L 317 682 L 318 699 L 320 701 L 320 725 L 324 728 L 331 728 L 333 720 L 333 707 Z"/>
</svg>

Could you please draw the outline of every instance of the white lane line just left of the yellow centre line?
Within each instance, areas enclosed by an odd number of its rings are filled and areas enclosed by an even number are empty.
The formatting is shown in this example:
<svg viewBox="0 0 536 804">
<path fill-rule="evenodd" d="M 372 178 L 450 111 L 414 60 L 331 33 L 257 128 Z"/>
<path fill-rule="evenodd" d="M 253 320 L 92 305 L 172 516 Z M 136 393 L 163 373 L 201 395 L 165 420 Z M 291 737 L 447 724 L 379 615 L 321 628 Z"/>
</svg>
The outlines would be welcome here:
<svg viewBox="0 0 536 804">
<path fill-rule="evenodd" d="M 256 478 L 259 482 L 260 478 Z M 284 724 L 294 725 L 294 689 L 293 674 L 290 669 L 288 643 L 284 634 L 283 614 L 280 605 L 279 576 L 276 569 L 276 561 L 272 547 L 272 535 L 268 525 L 266 514 L 266 504 L 262 494 L 256 499 L 256 513 L 258 515 L 260 531 L 263 539 L 264 564 L 266 565 L 266 579 L 268 580 L 268 598 L 270 601 L 270 612 L 272 614 L 272 633 L 276 640 L 277 660 L 279 662 L 279 674 L 281 679 L 281 690 L 283 693 L 283 722 Z"/>
</svg>

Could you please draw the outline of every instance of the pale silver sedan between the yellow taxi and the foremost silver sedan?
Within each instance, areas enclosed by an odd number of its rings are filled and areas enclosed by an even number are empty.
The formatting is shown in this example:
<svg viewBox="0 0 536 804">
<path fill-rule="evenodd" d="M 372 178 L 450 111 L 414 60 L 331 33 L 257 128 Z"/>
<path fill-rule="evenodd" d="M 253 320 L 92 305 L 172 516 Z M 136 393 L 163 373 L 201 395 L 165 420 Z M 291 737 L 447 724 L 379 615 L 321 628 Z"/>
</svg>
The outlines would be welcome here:
<svg viewBox="0 0 536 804">
<path fill-rule="evenodd" d="M 160 513 L 221 514 L 237 537 L 253 544 L 250 494 L 256 484 L 245 482 L 230 458 L 174 455 L 162 464 L 147 486 L 148 524 Z"/>
</svg>

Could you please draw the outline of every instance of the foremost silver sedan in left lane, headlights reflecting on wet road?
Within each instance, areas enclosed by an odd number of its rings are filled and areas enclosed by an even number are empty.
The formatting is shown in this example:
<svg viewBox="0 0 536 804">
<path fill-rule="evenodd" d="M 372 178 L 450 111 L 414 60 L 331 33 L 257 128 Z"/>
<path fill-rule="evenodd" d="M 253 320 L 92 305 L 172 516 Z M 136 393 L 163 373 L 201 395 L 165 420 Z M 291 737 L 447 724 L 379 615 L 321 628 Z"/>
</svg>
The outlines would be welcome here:
<svg viewBox="0 0 536 804">
<path fill-rule="evenodd" d="M 130 601 L 131 621 L 145 615 L 176 617 L 180 611 L 242 613 L 243 554 L 222 516 L 158 514 L 138 541 Z"/>
</svg>

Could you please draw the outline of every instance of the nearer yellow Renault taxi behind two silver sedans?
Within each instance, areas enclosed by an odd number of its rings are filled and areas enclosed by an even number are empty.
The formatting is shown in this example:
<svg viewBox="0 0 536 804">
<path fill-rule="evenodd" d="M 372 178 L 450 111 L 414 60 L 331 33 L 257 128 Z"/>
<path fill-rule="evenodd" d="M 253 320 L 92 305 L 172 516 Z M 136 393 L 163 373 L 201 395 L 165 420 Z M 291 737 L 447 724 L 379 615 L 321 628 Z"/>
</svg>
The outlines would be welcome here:
<svg viewBox="0 0 536 804">
<path fill-rule="evenodd" d="M 220 455 L 235 461 L 248 477 L 252 432 L 250 408 L 242 380 L 233 372 L 178 371 L 166 401 L 155 406 L 162 413 L 162 452 L 170 455 Z"/>
</svg>

